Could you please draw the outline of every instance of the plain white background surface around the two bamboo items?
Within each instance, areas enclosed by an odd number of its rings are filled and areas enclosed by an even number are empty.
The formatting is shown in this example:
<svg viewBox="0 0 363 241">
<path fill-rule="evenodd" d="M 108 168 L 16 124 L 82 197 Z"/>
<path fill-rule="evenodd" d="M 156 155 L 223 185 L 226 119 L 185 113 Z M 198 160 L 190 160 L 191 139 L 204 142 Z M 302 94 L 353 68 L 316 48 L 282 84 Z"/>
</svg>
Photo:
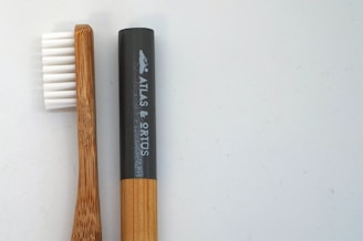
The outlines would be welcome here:
<svg viewBox="0 0 363 241">
<path fill-rule="evenodd" d="M 2 1 L 0 240 L 70 240 L 75 112 L 40 35 L 95 35 L 103 240 L 120 240 L 117 31 L 156 33 L 160 241 L 363 240 L 363 2 Z"/>
</svg>

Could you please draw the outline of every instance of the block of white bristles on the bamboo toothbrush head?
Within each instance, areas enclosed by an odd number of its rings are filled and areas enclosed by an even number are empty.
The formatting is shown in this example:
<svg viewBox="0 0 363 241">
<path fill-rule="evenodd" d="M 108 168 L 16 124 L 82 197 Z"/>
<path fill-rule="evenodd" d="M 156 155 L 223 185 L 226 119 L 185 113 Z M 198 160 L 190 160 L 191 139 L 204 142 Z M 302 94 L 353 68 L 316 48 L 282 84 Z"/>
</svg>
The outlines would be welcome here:
<svg viewBox="0 0 363 241">
<path fill-rule="evenodd" d="M 42 63 L 45 108 L 75 107 L 74 32 L 42 34 Z"/>
</svg>

